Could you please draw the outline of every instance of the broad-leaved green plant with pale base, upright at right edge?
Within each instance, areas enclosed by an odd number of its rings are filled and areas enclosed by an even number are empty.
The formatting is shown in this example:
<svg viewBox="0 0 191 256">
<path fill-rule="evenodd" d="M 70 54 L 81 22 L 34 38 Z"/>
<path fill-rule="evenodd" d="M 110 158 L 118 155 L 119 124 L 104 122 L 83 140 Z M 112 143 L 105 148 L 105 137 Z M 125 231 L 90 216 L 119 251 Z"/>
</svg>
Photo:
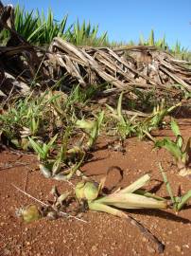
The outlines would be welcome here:
<svg viewBox="0 0 191 256">
<path fill-rule="evenodd" d="M 191 169 L 189 168 L 189 153 L 191 151 L 191 137 L 188 138 L 187 142 L 184 142 L 181 135 L 177 122 L 171 120 L 171 129 L 176 136 L 176 140 L 173 141 L 168 137 L 163 140 L 157 140 L 155 146 L 158 148 L 164 147 L 176 160 L 179 174 L 182 176 L 190 175 Z"/>
</svg>

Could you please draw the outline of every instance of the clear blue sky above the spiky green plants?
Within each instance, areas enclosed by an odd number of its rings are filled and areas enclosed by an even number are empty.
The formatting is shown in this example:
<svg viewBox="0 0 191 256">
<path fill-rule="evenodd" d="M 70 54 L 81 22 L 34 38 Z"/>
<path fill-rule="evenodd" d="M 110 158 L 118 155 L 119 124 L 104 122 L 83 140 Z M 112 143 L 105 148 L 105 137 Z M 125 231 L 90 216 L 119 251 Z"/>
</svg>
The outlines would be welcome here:
<svg viewBox="0 0 191 256">
<path fill-rule="evenodd" d="M 50 7 L 56 19 L 68 14 L 68 25 L 79 21 L 98 24 L 100 32 L 108 31 L 110 40 L 138 41 L 139 35 L 148 38 L 151 28 L 156 38 L 165 35 L 170 46 L 179 40 L 191 49 L 191 0 L 3 0 L 26 9 Z"/>
</svg>

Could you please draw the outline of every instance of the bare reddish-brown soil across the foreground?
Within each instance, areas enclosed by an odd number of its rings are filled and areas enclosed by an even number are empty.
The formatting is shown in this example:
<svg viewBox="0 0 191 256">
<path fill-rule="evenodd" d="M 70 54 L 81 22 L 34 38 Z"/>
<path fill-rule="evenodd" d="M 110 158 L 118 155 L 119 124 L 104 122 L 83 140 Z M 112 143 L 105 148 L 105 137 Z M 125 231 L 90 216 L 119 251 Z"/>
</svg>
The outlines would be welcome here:
<svg viewBox="0 0 191 256">
<path fill-rule="evenodd" d="M 191 119 L 180 119 L 182 136 L 191 135 Z M 160 131 L 157 136 L 172 136 L 170 130 Z M 149 141 L 130 138 L 126 141 L 126 152 L 108 149 L 108 138 L 101 137 L 96 152 L 81 170 L 91 178 L 100 180 L 108 168 L 117 166 L 123 171 L 112 172 L 106 186 L 124 187 L 143 174 L 151 174 L 147 188 L 158 195 L 167 196 L 158 163 L 162 161 L 168 180 L 175 193 L 181 186 L 182 192 L 191 189 L 191 179 L 177 175 L 172 157 L 165 150 L 153 150 Z M 17 167 L 12 167 L 17 165 Z M 12 167 L 12 168 L 11 168 Z M 66 182 L 45 179 L 38 170 L 33 155 L 15 155 L 4 151 L 0 154 L 0 255 L 55 255 L 55 256 L 122 256 L 158 255 L 157 248 L 130 222 L 101 212 L 84 212 L 75 219 L 43 218 L 30 224 L 23 223 L 15 210 L 27 204 L 37 204 L 25 194 L 18 192 L 11 184 L 46 202 L 53 185 L 61 192 L 72 185 Z M 76 184 L 78 180 L 72 180 Z M 130 210 L 128 213 L 148 228 L 165 244 L 161 255 L 191 255 L 191 204 L 179 214 L 174 210 Z"/>
</svg>

